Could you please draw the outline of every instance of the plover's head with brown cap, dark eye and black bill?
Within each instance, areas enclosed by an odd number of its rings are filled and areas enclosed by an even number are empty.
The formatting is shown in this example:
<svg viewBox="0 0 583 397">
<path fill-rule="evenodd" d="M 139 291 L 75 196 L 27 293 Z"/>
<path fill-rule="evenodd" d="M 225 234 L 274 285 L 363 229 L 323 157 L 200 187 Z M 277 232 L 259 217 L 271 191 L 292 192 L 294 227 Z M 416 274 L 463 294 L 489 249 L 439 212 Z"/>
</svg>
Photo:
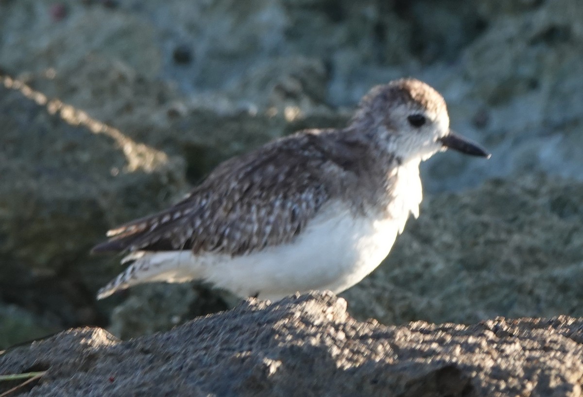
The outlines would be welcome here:
<svg viewBox="0 0 583 397">
<path fill-rule="evenodd" d="M 376 146 L 403 162 L 426 160 L 447 148 L 490 157 L 482 147 L 449 129 L 449 115 L 441 94 L 415 79 L 394 80 L 371 89 L 351 125 L 366 131 Z"/>
</svg>

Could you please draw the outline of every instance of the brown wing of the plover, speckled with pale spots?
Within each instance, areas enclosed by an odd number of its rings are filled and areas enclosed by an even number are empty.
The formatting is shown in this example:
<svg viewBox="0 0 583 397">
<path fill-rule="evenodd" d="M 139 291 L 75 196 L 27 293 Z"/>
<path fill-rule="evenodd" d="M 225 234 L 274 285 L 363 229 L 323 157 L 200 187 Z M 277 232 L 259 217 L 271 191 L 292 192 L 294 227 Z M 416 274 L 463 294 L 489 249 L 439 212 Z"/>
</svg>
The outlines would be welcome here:
<svg viewBox="0 0 583 397">
<path fill-rule="evenodd" d="M 241 255 L 291 241 L 334 195 L 352 152 L 302 132 L 220 164 L 170 209 L 110 230 L 94 252 L 181 250 Z"/>
</svg>

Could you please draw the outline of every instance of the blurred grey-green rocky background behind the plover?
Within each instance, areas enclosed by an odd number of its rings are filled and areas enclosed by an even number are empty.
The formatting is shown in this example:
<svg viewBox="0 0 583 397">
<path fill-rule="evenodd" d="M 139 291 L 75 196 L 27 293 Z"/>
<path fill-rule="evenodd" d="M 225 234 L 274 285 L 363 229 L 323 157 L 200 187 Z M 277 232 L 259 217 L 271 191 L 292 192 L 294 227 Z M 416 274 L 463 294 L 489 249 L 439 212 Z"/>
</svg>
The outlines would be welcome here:
<svg viewBox="0 0 583 397">
<path fill-rule="evenodd" d="M 581 16 L 580 0 L 0 0 L 0 348 L 232 307 L 201 283 L 97 302 L 122 268 L 89 250 L 230 156 L 345 125 L 403 76 L 436 87 L 492 157 L 423 164 L 420 218 L 342 294 L 349 311 L 583 315 Z"/>
</svg>

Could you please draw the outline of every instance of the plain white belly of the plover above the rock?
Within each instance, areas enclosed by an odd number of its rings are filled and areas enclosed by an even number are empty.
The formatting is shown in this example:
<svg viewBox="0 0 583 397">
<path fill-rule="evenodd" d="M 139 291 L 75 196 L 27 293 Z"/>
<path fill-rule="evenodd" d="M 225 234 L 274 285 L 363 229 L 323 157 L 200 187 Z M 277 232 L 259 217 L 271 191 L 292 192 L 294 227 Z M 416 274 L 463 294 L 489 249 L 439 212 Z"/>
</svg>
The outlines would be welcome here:
<svg viewBox="0 0 583 397">
<path fill-rule="evenodd" d="M 336 211 L 335 211 L 336 210 Z M 354 217 L 332 207 L 289 244 L 231 258 L 204 254 L 193 261 L 217 287 L 240 296 L 278 299 L 308 290 L 339 293 L 362 280 L 387 257 L 404 219 Z"/>
</svg>

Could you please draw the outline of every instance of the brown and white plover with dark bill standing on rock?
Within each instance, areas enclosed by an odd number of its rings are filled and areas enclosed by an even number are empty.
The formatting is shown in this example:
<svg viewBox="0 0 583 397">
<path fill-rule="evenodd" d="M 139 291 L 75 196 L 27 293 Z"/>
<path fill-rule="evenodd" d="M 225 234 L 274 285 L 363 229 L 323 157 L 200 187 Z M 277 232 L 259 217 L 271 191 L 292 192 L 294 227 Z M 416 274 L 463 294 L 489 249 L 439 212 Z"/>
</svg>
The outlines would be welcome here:
<svg viewBox="0 0 583 397">
<path fill-rule="evenodd" d="M 131 264 L 97 297 L 197 279 L 271 300 L 339 293 L 417 217 L 419 163 L 448 147 L 490 156 L 449 129 L 445 101 L 426 83 L 376 86 L 346 128 L 296 132 L 224 161 L 171 208 L 108 231 L 93 252 L 124 252 Z"/>
</svg>

